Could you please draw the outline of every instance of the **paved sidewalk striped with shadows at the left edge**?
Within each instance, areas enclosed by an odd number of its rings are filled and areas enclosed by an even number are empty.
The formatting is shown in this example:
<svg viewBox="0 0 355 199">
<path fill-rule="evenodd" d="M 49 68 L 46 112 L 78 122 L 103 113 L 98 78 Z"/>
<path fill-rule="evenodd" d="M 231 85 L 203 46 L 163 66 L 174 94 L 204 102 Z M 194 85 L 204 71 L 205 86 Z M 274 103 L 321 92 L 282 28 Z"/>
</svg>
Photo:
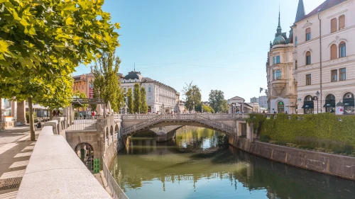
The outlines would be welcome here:
<svg viewBox="0 0 355 199">
<path fill-rule="evenodd" d="M 35 142 L 30 141 L 29 125 L 0 131 L 0 199 L 16 198 Z M 40 133 L 35 128 L 36 137 Z"/>
</svg>

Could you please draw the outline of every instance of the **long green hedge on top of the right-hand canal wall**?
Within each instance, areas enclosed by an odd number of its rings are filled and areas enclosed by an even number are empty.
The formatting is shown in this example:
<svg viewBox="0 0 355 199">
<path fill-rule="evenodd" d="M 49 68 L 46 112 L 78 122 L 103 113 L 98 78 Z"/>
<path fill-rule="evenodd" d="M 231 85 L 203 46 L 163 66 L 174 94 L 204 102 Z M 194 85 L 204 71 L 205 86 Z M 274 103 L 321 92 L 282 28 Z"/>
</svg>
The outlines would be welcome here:
<svg viewBox="0 0 355 199">
<path fill-rule="evenodd" d="M 289 119 L 290 117 L 290 119 Z M 248 123 L 260 125 L 254 127 L 261 136 L 280 142 L 337 142 L 355 147 L 355 115 L 333 115 L 319 113 L 312 115 L 271 115 L 251 114 Z"/>
</svg>

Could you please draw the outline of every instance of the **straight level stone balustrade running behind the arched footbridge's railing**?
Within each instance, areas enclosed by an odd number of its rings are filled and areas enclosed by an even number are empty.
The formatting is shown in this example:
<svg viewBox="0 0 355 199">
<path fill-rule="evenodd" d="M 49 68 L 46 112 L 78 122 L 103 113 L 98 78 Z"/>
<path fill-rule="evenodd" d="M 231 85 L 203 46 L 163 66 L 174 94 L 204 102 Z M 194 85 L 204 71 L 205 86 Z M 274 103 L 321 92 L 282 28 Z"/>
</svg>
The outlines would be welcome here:
<svg viewBox="0 0 355 199">
<path fill-rule="evenodd" d="M 195 114 L 165 114 L 165 115 L 195 115 Z M 202 115 L 204 118 L 210 118 L 214 120 L 236 120 L 249 118 L 249 114 L 237 114 L 237 113 L 212 113 L 212 114 L 197 114 Z M 148 120 L 154 118 L 157 115 L 139 115 L 139 114 L 126 114 L 122 115 L 122 120 Z"/>
</svg>

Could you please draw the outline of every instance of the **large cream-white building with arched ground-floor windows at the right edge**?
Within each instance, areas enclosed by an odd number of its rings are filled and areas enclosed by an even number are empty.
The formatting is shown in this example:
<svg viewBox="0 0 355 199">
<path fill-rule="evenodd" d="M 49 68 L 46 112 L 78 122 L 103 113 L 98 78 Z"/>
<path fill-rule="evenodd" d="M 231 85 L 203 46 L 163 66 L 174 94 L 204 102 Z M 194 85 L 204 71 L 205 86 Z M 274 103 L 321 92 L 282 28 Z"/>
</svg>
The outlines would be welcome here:
<svg viewBox="0 0 355 199">
<path fill-rule="evenodd" d="M 297 112 L 333 113 L 342 102 L 354 114 L 355 1 L 327 0 L 306 15 L 300 0 L 292 28 Z"/>
</svg>

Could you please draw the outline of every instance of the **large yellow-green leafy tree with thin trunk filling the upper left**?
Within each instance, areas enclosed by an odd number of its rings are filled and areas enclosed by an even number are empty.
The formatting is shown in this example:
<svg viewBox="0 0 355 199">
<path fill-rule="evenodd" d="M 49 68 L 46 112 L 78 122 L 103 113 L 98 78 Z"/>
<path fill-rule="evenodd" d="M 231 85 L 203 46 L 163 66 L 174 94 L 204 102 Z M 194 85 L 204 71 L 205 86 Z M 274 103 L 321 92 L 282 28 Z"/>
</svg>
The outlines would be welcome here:
<svg viewBox="0 0 355 199">
<path fill-rule="evenodd" d="M 28 100 L 32 141 L 32 100 L 57 96 L 62 85 L 53 80 L 65 79 L 63 71 L 72 73 L 79 63 L 88 64 L 119 46 L 114 31 L 119 23 L 110 23 L 103 3 L 0 0 L 0 96 Z M 67 99 L 54 101 L 56 105 L 68 106 L 71 91 L 66 92 L 62 97 Z"/>
</svg>

